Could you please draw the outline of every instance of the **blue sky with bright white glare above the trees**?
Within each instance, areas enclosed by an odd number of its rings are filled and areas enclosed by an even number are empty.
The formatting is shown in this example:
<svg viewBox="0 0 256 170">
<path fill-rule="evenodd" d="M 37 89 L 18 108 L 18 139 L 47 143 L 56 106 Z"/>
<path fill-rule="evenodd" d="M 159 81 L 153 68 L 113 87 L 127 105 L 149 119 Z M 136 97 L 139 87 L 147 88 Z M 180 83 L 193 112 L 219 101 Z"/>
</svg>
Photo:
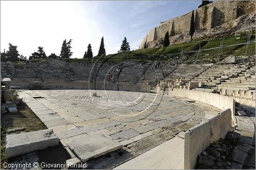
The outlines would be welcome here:
<svg viewBox="0 0 256 170">
<path fill-rule="evenodd" d="M 131 49 L 161 21 L 197 9 L 201 1 L 1 1 L 1 52 L 8 43 L 29 57 L 38 46 L 60 54 L 73 39 L 72 58 L 82 58 L 89 43 L 97 55 L 104 36 L 107 54 L 116 53 L 126 36 Z"/>
</svg>

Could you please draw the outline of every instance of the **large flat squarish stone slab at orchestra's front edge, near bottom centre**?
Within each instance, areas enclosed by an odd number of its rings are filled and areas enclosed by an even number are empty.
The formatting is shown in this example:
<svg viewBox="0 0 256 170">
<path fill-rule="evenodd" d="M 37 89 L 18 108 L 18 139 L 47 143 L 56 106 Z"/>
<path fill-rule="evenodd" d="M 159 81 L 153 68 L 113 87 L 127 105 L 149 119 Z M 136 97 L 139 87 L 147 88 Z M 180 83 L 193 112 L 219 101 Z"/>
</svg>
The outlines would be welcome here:
<svg viewBox="0 0 256 170">
<path fill-rule="evenodd" d="M 73 139 L 67 142 L 67 145 L 83 162 L 90 158 L 96 158 L 108 152 L 115 151 L 122 147 L 122 144 L 112 140 L 102 133 L 95 133 Z"/>
</svg>

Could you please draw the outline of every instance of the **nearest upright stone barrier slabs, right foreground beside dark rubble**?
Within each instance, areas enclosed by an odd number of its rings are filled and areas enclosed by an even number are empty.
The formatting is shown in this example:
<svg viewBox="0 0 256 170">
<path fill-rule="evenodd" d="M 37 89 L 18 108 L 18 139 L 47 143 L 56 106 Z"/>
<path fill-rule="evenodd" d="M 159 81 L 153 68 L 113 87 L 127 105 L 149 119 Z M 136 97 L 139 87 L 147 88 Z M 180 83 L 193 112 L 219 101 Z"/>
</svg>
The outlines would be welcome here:
<svg viewBox="0 0 256 170">
<path fill-rule="evenodd" d="M 212 142 L 225 138 L 231 130 L 231 110 L 226 109 L 199 125 L 187 130 L 184 137 L 184 169 L 195 169 L 198 155 Z"/>
</svg>

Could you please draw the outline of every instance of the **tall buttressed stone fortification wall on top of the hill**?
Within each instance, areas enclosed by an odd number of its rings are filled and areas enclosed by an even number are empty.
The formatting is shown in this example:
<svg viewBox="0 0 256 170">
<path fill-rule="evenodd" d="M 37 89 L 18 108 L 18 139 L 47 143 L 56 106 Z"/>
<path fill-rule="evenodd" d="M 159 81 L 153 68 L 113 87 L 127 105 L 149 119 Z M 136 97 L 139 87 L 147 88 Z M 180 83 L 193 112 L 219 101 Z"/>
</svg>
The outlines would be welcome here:
<svg viewBox="0 0 256 170">
<path fill-rule="evenodd" d="M 254 1 L 216 1 L 206 6 L 194 10 L 195 14 L 195 30 L 196 31 L 210 31 L 212 28 L 229 23 L 247 13 L 255 11 Z M 140 48 L 152 47 L 148 46 L 148 42 L 160 40 L 164 38 L 165 33 L 168 31 L 169 35 L 187 34 L 190 27 L 192 11 L 161 22 L 161 25 L 153 28 L 147 33 Z"/>
</svg>

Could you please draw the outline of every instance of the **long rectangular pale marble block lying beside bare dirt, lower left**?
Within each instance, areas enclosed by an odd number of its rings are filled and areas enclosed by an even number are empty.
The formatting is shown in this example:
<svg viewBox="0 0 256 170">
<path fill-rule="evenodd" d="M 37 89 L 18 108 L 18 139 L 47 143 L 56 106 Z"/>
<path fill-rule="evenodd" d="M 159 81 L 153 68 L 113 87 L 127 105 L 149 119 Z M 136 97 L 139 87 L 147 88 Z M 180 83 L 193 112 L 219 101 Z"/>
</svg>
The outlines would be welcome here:
<svg viewBox="0 0 256 170">
<path fill-rule="evenodd" d="M 5 154 L 7 158 L 29 152 L 44 150 L 59 144 L 58 137 L 52 129 L 12 134 L 6 136 Z"/>
</svg>

